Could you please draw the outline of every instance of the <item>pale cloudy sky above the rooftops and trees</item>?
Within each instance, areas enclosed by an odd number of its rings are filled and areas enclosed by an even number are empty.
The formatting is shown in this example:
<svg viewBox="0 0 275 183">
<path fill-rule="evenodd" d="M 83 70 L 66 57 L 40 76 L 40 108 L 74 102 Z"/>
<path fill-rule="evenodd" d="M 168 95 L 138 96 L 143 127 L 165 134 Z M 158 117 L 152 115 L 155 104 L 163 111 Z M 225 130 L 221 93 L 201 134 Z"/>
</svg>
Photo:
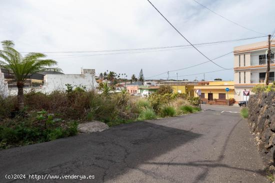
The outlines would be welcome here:
<svg viewBox="0 0 275 183">
<path fill-rule="evenodd" d="M 193 44 L 262 36 L 217 16 L 193 0 L 150 1 Z M 274 0 L 197 1 L 265 35 L 275 30 Z M 188 44 L 147 0 L 0 0 L 0 7 L 0 40 L 13 40 L 15 49 L 23 55 L 46 52 L 47 58 L 56 60 L 65 74 L 79 74 L 83 67 L 95 69 L 96 75 L 111 70 L 126 73 L 130 78 L 132 74 L 138 76 L 142 68 L 145 78 L 166 79 L 167 73 L 158 74 L 207 61 L 190 47 L 162 51 L 71 52 Z M 213 59 L 231 52 L 234 46 L 263 40 L 267 37 L 197 48 Z M 233 54 L 214 61 L 224 68 L 232 68 Z M 197 74 L 216 70 L 221 68 L 208 62 L 169 72 L 169 78 L 176 79 L 177 73 L 178 80 L 233 79 L 233 70 Z"/>
</svg>

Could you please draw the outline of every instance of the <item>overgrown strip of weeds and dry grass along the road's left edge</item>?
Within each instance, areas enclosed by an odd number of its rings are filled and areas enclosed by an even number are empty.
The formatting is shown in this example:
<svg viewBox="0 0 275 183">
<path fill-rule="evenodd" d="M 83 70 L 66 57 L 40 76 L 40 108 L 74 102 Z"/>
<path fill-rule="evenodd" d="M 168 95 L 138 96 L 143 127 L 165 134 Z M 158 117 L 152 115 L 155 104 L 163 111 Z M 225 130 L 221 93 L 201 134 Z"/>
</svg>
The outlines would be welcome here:
<svg viewBox="0 0 275 183">
<path fill-rule="evenodd" d="M 24 94 L 25 106 L 16 112 L 16 97 L 0 99 L 0 147 L 50 141 L 77 133 L 77 123 L 101 121 L 108 126 L 185 114 L 181 106 L 195 108 L 197 98 L 174 94 L 169 86 L 148 98 L 130 96 L 126 90 L 98 94 L 79 86 L 66 91 Z M 167 92 L 167 93 L 166 93 Z"/>
</svg>

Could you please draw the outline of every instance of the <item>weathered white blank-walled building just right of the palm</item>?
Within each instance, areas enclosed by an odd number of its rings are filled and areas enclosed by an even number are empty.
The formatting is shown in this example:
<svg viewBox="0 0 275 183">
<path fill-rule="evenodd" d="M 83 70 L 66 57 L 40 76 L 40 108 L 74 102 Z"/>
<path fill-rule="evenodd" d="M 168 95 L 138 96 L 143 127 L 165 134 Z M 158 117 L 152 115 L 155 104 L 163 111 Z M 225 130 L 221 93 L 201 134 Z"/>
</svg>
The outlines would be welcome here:
<svg viewBox="0 0 275 183">
<path fill-rule="evenodd" d="M 54 90 L 65 91 L 66 84 L 75 87 L 85 87 L 86 90 L 98 88 L 95 81 L 94 69 L 81 69 L 81 74 L 46 74 L 44 76 L 43 90 L 45 93 L 51 93 Z"/>
</svg>

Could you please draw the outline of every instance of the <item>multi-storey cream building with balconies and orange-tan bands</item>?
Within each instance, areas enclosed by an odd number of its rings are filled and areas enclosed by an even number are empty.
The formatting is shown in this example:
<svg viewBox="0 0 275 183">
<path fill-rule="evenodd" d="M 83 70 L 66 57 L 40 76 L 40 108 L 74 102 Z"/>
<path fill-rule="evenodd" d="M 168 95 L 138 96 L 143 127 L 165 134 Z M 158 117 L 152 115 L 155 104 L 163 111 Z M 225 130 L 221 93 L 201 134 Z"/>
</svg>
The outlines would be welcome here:
<svg viewBox="0 0 275 183">
<path fill-rule="evenodd" d="M 243 101 L 243 91 L 250 91 L 256 84 L 265 83 L 267 69 L 267 41 L 234 47 L 234 87 L 236 101 Z M 269 82 L 274 81 L 275 40 L 271 41 Z M 247 98 L 248 99 L 248 98 Z"/>
</svg>

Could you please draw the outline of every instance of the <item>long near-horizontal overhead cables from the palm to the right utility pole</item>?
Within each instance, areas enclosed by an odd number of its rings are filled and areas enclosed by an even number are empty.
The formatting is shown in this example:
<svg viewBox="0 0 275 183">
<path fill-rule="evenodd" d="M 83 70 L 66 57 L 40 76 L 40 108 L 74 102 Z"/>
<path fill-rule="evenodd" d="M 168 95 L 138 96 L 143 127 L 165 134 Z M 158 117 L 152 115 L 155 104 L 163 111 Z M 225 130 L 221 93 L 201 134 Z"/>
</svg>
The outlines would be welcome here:
<svg viewBox="0 0 275 183">
<path fill-rule="evenodd" d="M 203 42 L 197 43 L 193 45 L 204 45 L 204 44 L 215 44 L 215 43 L 223 43 L 223 42 L 233 42 L 233 41 L 240 41 L 240 40 L 248 40 L 248 39 L 256 39 L 265 36 L 257 36 L 257 37 L 247 37 L 247 38 L 240 38 L 240 39 L 231 39 L 231 40 L 222 40 L 222 41 L 213 41 L 213 42 Z M 164 49 L 164 48 L 174 48 L 174 47 L 186 47 L 190 46 L 189 44 L 186 45 L 175 45 L 175 46 L 161 46 L 161 47 L 146 47 L 146 48 L 131 48 L 131 49 L 107 49 L 107 50 L 86 50 L 86 51 L 39 51 L 41 53 L 89 53 L 89 52 L 115 52 L 115 51 L 138 51 L 138 50 L 150 50 L 150 49 Z M 29 53 L 29 52 L 20 52 L 20 53 Z"/>
</svg>

